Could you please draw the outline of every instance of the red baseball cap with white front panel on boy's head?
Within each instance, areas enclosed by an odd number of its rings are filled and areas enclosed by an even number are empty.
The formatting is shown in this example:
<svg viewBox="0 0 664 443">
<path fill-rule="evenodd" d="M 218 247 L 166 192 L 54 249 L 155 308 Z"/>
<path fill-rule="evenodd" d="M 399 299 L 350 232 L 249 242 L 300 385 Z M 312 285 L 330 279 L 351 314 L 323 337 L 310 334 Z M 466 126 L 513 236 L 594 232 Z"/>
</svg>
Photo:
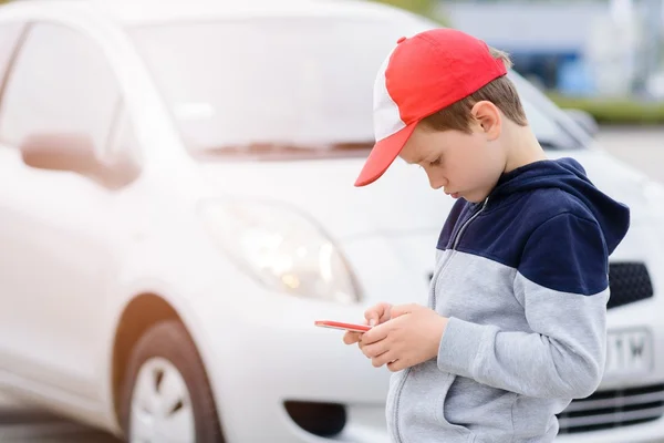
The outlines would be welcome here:
<svg viewBox="0 0 664 443">
<path fill-rule="evenodd" d="M 417 123 L 507 73 L 481 40 L 454 29 L 402 37 L 374 85 L 372 148 L 355 186 L 378 179 Z"/>
</svg>

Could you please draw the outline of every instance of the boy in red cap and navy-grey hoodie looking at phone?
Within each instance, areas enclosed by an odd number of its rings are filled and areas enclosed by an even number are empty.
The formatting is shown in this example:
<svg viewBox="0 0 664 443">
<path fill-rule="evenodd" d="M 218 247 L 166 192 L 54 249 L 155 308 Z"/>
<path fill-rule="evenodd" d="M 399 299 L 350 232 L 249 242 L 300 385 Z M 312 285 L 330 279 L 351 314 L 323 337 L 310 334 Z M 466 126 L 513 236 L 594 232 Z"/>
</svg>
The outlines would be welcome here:
<svg viewBox="0 0 664 443">
<path fill-rule="evenodd" d="M 374 90 L 376 138 L 356 186 L 401 156 L 458 198 L 429 307 L 381 303 L 346 332 L 393 371 L 395 442 L 550 442 L 556 414 L 599 385 L 609 255 L 629 209 L 571 158 L 547 159 L 507 55 L 463 32 L 402 38 Z"/>
</svg>

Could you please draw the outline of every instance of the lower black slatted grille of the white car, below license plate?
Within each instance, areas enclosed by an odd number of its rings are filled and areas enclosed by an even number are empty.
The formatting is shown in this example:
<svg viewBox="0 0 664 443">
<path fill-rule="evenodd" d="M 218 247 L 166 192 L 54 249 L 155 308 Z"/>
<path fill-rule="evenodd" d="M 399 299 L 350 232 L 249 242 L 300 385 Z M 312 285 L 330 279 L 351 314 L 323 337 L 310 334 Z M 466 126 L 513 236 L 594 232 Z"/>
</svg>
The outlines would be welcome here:
<svg viewBox="0 0 664 443">
<path fill-rule="evenodd" d="M 598 391 L 574 400 L 558 415 L 559 434 L 629 426 L 660 419 L 664 414 L 664 384 Z"/>
</svg>

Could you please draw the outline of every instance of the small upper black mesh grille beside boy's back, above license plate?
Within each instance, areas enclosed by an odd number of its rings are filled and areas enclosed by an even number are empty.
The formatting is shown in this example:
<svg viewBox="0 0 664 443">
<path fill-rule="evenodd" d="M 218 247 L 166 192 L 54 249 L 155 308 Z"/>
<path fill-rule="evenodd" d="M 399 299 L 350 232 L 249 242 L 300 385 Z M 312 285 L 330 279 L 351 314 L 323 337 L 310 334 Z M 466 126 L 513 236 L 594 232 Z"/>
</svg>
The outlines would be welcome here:
<svg viewBox="0 0 664 443">
<path fill-rule="evenodd" d="M 642 262 L 612 262 L 609 265 L 611 297 L 608 309 L 653 297 L 653 284 Z"/>
</svg>

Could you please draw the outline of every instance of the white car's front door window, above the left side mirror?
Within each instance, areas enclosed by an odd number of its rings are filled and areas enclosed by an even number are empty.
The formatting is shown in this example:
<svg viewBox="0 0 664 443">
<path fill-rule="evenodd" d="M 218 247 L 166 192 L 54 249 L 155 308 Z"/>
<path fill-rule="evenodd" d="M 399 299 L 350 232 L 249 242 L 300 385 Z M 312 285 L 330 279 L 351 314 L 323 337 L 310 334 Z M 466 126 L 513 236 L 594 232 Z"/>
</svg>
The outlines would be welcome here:
<svg viewBox="0 0 664 443">
<path fill-rule="evenodd" d="M 30 28 L 8 76 L 0 106 L 0 140 L 19 146 L 51 133 L 86 135 L 106 148 L 121 94 L 100 48 L 69 28 Z"/>
</svg>

